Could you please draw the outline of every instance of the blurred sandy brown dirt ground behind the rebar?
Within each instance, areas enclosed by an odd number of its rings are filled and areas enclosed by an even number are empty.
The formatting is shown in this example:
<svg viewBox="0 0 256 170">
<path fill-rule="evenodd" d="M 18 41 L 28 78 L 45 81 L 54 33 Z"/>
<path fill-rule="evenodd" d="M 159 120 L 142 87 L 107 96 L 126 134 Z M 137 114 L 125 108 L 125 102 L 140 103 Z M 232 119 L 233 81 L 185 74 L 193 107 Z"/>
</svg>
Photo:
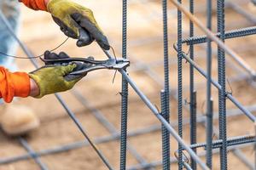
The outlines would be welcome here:
<svg viewBox="0 0 256 170">
<path fill-rule="evenodd" d="M 205 1 L 196 0 L 195 15 L 201 21 L 206 23 Z M 251 14 L 256 14 L 256 7 L 247 1 L 241 4 L 241 8 L 245 8 Z M 82 0 L 87 7 L 94 11 L 99 25 L 109 38 L 110 44 L 115 49 L 115 53 L 121 55 L 121 1 L 117 0 L 99 0 L 86 1 Z M 184 2 L 188 3 L 188 2 Z M 129 3 L 128 14 L 128 56 L 131 59 L 130 76 L 137 82 L 143 93 L 160 108 L 160 90 L 163 81 L 163 46 L 162 46 L 162 20 L 161 20 L 161 4 L 160 1 L 131 1 Z M 212 20 L 216 20 L 213 16 Z M 177 12 L 172 5 L 169 4 L 169 45 L 170 45 L 170 83 L 172 94 L 177 92 L 177 54 L 172 48 L 172 44 L 177 40 Z M 227 30 L 238 29 L 242 27 L 255 26 L 241 14 L 236 14 L 234 10 L 227 9 L 226 28 Z M 214 30 L 216 22 L 213 24 Z M 195 29 L 196 35 L 201 35 L 201 31 Z M 189 35 L 189 21 L 185 17 L 183 22 L 183 35 Z M 254 56 L 255 52 L 255 35 L 249 37 L 241 37 L 227 40 L 227 44 L 235 49 L 254 69 L 256 65 Z M 22 26 L 20 30 L 20 39 L 32 50 L 35 55 L 43 54 L 46 49 L 55 48 L 58 44 L 65 40 L 65 36 L 59 31 L 58 26 L 52 22 L 49 14 L 44 12 L 35 12 L 31 9 L 22 7 Z M 216 54 L 216 46 L 213 53 Z M 184 44 L 184 51 L 189 48 Z M 75 41 L 69 39 L 56 52 L 65 51 L 72 57 L 94 56 L 96 59 L 105 59 L 102 50 L 94 42 L 90 47 L 77 48 Z M 19 56 L 25 54 L 19 49 Z M 206 70 L 206 51 L 201 45 L 195 46 L 195 60 Z M 28 60 L 17 60 L 20 71 L 32 71 L 33 65 Z M 148 71 L 146 68 L 150 69 Z M 143 69 L 144 68 L 144 69 Z M 212 63 L 212 76 L 218 79 L 217 59 L 216 55 Z M 148 73 L 154 75 L 148 75 Z M 83 81 L 74 88 L 75 92 L 79 92 L 84 99 L 88 101 L 88 105 L 95 107 L 102 112 L 108 121 L 113 124 L 119 132 L 120 128 L 120 95 L 121 77 L 118 74 L 114 82 L 112 82 L 114 71 L 95 71 L 91 72 Z M 241 76 L 239 81 L 233 80 L 234 77 Z M 241 69 L 234 60 L 227 55 L 227 77 L 230 80 L 230 86 L 227 90 L 231 91 L 234 97 L 241 102 L 242 105 L 255 105 L 256 91 L 251 82 L 248 80 L 247 72 Z M 205 112 L 206 105 L 206 81 L 204 77 L 195 71 L 195 82 L 198 99 L 198 112 Z M 79 121 L 82 123 L 85 131 L 91 139 L 98 139 L 111 135 L 108 128 L 104 127 L 97 121 L 96 117 L 90 111 L 90 108 L 82 105 L 81 100 L 76 99 L 73 91 L 62 93 L 61 97 L 65 100 L 70 110 L 75 113 Z M 177 101 L 172 95 L 171 101 L 171 120 L 177 122 Z M 218 113 L 218 91 L 212 88 L 212 98 L 214 100 L 214 111 Z M 183 99 L 189 99 L 189 64 L 183 62 Z M 83 141 L 84 136 L 79 132 L 78 127 L 73 123 L 67 112 L 62 108 L 54 95 L 49 95 L 43 99 L 18 99 L 9 105 L 29 105 L 41 120 L 41 126 L 24 137 L 33 150 L 45 150 L 70 144 L 73 142 Z M 189 105 L 187 105 L 189 106 Z M 227 100 L 228 109 L 236 109 L 229 100 Z M 160 125 L 156 117 L 148 110 L 143 102 L 137 97 L 137 94 L 130 88 L 129 116 L 128 116 L 129 132 L 134 132 L 152 125 Z M 183 110 L 184 119 L 189 118 L 189 111 Z M 218 132 L 218 120 L 214 121 L 215 128 Z M 177 129 L 177 127 L 175 127 Z M 232 116 L 228 118 L 227 134 L 229 137 L 238 135 L 253 134 L 253 122 L 244 116 Z M 199 124 L 197 127 L 198 142 L 205 142 L 205 127 Z M 189 125 L 183 125 L 183 139 L 189 143 Z M 137 150 L 145 161 L 161 160 L 161 133 L 160 130 L 144 133 L 129 138 L 129 144 Z M 102 150 L 104 156 L 115 169 L 119 168 L 119 140 L 113 140 L 102 144 L 97 144 Z M 171 138 L 172 156 L 177 150 L 177 142 Z M 202 151 L 202 150 L 201 150 Z M 253 162 L 253 146 L 242 149 L 248 161 Z M 3 132 L 0 132 L 0 160 L 11 156 L 20 156 L 26 154 L 26 150 L 21 146 L 18 139 L 9 138 Z M 229 169 L 248 169 L 233 152 L 229 152 Z M 219 169 L 218 154 L 213 157 L 213 169 Z M 90 146 L 84 146 L 79 149 L 69 150 L 61 153 L 51 154 L 40 157 L 41 161 L 52 170 L 104 170 L 102 161 L 92 150 Z M 203 159 L 203 158 L 202 158 Z M 204 159 L 203 159 L 204 160 Z M 137 165 L 137 159 L 128 151 L 127 167 Z M 40 169 L 34 160 L 15 161 L 9 164 L 0 165 L 0 170 L 37 170 Z M 161 167 L 156 167 L 161 169 Z M 177 169 L 176 163 L 172 164 L 172 169 Z"/>
</svg>

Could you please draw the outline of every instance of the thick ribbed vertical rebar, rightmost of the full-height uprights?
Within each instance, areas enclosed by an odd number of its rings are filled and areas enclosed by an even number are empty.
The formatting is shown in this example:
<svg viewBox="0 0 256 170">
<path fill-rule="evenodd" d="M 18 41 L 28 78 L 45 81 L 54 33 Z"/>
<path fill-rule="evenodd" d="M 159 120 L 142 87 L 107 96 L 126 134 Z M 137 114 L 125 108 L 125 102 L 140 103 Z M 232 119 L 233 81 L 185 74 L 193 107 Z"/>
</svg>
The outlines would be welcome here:
<svg viewBox="0 0 256 170">
<path fill-rule="evenodd" d="M 224 0 L 217 1 L 218 10 L 218 32 L 219 38 L 224 42 Z M 218 111 L 219 111 L 219 137 L 223 140 L 220 148 L 221 169 L 227 169 L 227 132 L 226 132 L 226 77 L 225 77 L 225 52 L 218 47 L 218 82 L 221 89 L 218 91 Z"/>
</svg>

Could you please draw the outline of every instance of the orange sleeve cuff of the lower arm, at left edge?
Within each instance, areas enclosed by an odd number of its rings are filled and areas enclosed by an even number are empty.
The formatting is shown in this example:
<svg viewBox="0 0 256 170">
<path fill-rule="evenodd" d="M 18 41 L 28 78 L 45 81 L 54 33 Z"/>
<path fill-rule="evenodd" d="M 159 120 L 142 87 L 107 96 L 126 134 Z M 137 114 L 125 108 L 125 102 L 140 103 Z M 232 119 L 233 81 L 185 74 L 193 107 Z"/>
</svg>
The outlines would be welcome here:
<svg viewBox="0 0 256 170">
<path fill-rule="evenodd" d="M 0 66 L 0 98 L 9 103 L 16 97 L 26 98 L 30 93 L 30 78 L 26 72 L 11 73 Z"/>
</svg>

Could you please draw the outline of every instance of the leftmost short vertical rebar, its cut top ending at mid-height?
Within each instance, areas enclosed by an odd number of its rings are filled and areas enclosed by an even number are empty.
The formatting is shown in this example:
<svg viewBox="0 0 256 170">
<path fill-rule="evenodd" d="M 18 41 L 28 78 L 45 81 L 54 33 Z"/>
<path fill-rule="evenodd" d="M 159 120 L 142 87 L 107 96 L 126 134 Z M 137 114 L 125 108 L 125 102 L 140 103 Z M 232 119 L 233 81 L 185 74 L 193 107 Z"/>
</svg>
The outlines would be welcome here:
<svg viewBox="0 0 256 170">
<path fill-rule="evenodd" d="M 169 122 L 169 115 L 166 111 L 166 91 L 161 90 L 161 115 Z M 170 133 L 162 125 L 162 163 L 163 170 L 170 169 Z"/>
</svg>

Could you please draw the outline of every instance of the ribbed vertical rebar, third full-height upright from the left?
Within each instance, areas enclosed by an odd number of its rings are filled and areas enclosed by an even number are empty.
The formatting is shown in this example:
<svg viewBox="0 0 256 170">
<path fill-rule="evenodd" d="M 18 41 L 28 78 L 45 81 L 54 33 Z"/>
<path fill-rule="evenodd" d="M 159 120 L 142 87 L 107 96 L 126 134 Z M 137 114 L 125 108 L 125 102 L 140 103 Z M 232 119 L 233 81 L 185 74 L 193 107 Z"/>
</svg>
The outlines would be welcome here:
<svg viewBox="0 0 256 170">
<path fill-rule="evenodd" d="M 182 3 L 182 0 L 178 0 Z M 182 49 L 182 12 L 177 9 L 177 122 L 178 135 L 183 137 L 183 49 Z M 178 169 L 183 169 L 183 148 L 178 144 Z"/>
</svg>

